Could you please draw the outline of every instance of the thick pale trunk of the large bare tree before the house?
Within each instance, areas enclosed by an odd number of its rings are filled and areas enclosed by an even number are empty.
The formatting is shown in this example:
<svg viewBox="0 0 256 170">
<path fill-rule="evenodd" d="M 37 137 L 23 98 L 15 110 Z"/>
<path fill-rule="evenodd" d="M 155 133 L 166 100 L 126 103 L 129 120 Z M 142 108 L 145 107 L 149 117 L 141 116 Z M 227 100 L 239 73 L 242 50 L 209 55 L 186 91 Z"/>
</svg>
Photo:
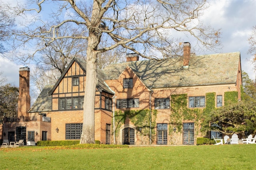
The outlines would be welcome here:
<svg viewBox="0 0 256 170">
<path fill-rule="evenodd" d="M 100 33 L 98 27 L 100 25 L 99 6 L 96 1 L 93 4 L 92 21 L 89 29 L 88 47 L 87 47 L 87 63 L 86 63 L 86 83 L 84 93 L 84 123 L 80 144 L 95 143 L 94 139 L 94 107 L 95 92 L 98 83 L 97 78 L 97 47 L 100 42 Z"/>
</svg>

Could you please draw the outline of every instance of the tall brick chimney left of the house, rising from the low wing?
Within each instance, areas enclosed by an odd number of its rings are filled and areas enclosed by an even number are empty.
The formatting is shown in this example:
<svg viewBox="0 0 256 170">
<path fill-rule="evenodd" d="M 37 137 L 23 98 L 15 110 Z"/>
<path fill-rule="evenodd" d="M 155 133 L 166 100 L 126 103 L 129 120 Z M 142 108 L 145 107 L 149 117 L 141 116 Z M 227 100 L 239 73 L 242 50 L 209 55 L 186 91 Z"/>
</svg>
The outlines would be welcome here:
<svg viewBox="0 0 256 170">
<path fill-rule="evenodd" d="M 30 69 L 22 67 L 20 73 L 20 87 L 18 98 L 18 116 L 28 116 L 28 109 L 30 109 L 30 94 L 29 94 L 29 80 Z"/>
</svg>

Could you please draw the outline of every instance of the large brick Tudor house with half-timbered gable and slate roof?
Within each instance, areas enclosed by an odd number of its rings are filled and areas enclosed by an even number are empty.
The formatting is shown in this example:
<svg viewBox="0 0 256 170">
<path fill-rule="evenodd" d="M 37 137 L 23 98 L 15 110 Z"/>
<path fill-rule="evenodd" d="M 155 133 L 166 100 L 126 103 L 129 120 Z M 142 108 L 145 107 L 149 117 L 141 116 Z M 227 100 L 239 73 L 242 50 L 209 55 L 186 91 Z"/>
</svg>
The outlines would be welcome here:
<svg viewBox="0 0 256 170">
<path fill-rule="evenodd" d="M 136 54 L 128 54 L 127 62 L 98 69 L 95 140 L 104 144 L 196 145 L 196 138 L 206 135 L 200 132 L 200 123 L 208 100 L 218 108 L 225 104 L 228 92 L 235 92 L 239 101 L 242 76 L 239 52 L 196 56 L 190 54 L 190 48 L 190 43 L 184 43 L 182 59 L 139 61 Z M 79 140 L 86 62 L 74 58 L 56 84 L 44 87 L 32 107 L 29 73 L 29 68 L 20 68 L 18 119 L 4 119 L 3 139 L 24 139 L 27 145 L 42 140 Z M 177 106 L 179 96 L 183 107 Z M 213 131 L 208 137 L 212 135 L 222 137 Z"/>
</svg>

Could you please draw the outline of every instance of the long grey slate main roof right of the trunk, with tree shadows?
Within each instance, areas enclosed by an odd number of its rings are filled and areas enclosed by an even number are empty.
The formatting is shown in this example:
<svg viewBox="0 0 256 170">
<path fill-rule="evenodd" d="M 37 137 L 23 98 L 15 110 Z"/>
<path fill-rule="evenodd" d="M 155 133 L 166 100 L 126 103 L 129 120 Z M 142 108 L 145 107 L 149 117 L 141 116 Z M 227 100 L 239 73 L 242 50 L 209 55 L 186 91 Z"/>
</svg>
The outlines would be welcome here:
<svg viewBox="0 0 256 170">
<path fill-rule="evenodd" d="M 106 79 L 117 79 L 128 65 L 149 88 L 196 86 L 235 83 L 240 64 L 240 52 L 214 55 L 192 55 L 188 68 L 183 60 L 132 61 L 110 64 L 103 69 Z"/>
</svg>

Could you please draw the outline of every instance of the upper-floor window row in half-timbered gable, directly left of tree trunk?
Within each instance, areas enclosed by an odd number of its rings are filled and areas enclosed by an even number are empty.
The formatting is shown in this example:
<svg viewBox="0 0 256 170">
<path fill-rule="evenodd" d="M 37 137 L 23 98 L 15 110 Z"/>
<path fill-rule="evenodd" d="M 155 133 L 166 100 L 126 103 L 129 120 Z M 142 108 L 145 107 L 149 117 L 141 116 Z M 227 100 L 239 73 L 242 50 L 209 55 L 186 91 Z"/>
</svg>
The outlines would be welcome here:
<svg viewBox="0 0 256 170">
<path fill-rule="evenodd" d="M 82 109 L 84 97 L 60 98 L 59 109 Z"/>
</svg>

